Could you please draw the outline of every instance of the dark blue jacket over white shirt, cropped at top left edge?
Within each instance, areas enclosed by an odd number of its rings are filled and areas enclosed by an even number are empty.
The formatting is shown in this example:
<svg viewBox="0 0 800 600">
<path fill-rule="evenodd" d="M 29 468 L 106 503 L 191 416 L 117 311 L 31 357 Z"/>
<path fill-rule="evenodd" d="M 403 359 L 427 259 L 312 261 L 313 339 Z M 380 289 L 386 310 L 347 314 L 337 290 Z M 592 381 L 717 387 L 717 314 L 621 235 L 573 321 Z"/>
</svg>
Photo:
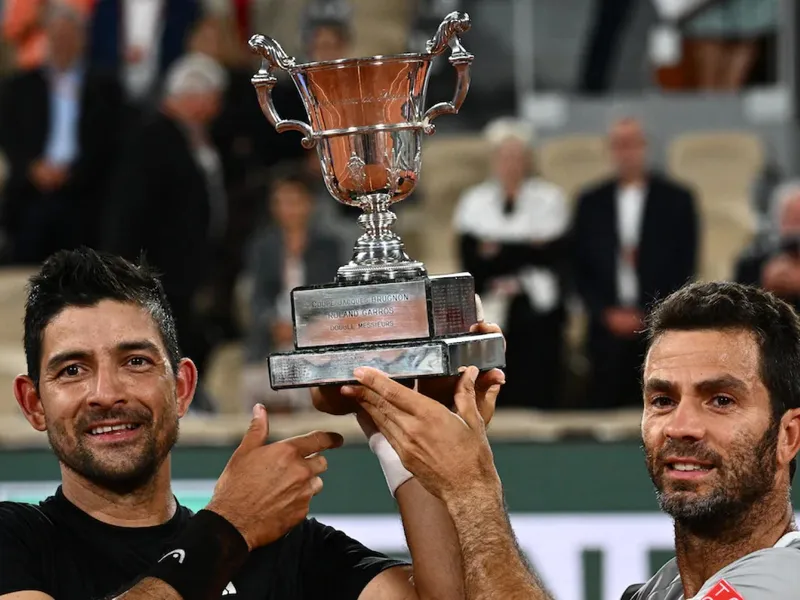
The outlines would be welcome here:
<svg viewBox="0 0 800 600">
<path fill-rule="evenodd" d="M 98 0 L 89 32 L 93 65 L 118 72 L 123 64 L 123 0 Z M 200 15 L 198 0 L 164 0 L 164 30 L 159 48 L 159 74 L 184 53 L 189 30 Z"/>
</svg>

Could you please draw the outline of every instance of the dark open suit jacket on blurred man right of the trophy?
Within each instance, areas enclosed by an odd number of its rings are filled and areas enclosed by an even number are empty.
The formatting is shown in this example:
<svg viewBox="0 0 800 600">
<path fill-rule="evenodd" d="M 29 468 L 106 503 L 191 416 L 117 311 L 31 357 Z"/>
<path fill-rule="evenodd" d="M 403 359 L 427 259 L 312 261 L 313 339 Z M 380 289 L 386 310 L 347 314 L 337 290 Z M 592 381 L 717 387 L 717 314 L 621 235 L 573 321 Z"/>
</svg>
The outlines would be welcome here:
<svg viewBox="0 0 800 600">
<path fill-rule="evenodd" d="M 585 192 L 573 222 L 575 285 L 593 319 L 619 305 L 616 194 L 614 180 Z M 637 256 L 641 309 L 694 277 L 697 249 L 698 222 L 691 192 L 651 175 Z"/>
</svg>

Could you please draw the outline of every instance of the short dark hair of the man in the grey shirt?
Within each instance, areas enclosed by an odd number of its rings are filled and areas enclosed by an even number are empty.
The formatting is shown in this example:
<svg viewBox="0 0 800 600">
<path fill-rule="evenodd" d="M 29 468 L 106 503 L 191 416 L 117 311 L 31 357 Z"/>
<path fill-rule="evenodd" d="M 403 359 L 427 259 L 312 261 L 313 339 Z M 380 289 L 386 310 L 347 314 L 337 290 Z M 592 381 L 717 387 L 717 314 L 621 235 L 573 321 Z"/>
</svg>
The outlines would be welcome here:
<svg viewBox="0 0 800 600">
<path fill-rule="evenodd" d="M 731 282 L 692 283 L 667 296 L 647 317 L 648 346 L 667 331 L 748 331 L 759 347 L 759 371 L 774 423 L 800 407 L 800 318 L 770 292 Z M 796 461 L 790 475 L 794 478 Z"/>
</svg>

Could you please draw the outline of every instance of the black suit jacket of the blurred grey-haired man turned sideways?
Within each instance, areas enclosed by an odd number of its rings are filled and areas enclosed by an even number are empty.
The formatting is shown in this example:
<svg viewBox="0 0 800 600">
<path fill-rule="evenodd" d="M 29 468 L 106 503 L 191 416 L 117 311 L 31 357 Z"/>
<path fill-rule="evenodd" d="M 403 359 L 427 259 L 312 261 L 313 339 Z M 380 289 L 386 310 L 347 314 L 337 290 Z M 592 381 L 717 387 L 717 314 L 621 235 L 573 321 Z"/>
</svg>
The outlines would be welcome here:
<svg viewBox="0 0 800 600">
<path fill-rule="evenodd" d="M 206 177 L 176 122 L 156 113 L 139 128 L 109 200 L 104 248 L 129 259 L 144 250 L 170 301 L 188 301 L 209 276 L 211 207 Z"/>
</svg>

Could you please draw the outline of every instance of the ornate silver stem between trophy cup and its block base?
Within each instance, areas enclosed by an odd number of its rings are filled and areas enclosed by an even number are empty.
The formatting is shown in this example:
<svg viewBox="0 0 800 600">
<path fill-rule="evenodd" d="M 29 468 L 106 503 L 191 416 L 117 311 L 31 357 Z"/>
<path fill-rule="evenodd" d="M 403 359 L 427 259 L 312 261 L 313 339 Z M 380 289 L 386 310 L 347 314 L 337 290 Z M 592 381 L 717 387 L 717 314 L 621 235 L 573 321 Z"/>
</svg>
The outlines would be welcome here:
<svg viewBox="0 0 800 600">
<path fill-rule="evenodd" d="M 364 212 L 358 217 L 358 224 L 364 229 L 364 234 L 353 248 L 353 259 L 339 269 L 337 281 L 405 281 L 426 275 L 424 265 L 408 257 L 400 236 L 392 231 L 397 215 L 389 210 L 390 202 L 389 194 L 363 197 L 361 207 Z"/>
</svg>

